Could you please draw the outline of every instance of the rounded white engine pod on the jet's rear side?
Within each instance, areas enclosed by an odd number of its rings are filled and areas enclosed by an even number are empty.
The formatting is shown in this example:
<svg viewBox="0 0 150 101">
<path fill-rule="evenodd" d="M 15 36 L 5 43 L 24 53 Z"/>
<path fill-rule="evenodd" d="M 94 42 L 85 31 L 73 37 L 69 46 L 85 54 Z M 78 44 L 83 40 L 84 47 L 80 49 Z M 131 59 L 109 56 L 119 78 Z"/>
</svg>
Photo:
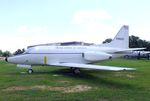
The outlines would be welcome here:
<svg viewBox="0 0 150 101">
<path fill-rule="evenodd" d="M 90 51 L 90 52 L 85 52 L 83 54 L 83 58 L 88 61 L 100 61 L 100 60 L 111 59 L 112 55 L 104 52 Z"/>
</svg>

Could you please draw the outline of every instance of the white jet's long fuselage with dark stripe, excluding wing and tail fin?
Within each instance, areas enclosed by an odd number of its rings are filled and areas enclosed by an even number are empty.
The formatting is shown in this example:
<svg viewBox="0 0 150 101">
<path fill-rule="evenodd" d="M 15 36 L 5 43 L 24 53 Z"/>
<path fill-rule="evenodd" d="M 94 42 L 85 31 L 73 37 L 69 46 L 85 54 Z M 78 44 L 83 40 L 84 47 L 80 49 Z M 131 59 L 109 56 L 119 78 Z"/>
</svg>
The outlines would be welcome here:
<svg viewBox="0 0 150 101">
<path fill-rule="evenodd" d="M 99 46 L 37 46 L 29 48 L 21 55 L 9 57 L 8 61 L 28 65 L 46 65 L 58 62 L 92 63 L 123 55 L 115 54 L 115 51 L 117 51 L 116 48 Z"/>
</svg>

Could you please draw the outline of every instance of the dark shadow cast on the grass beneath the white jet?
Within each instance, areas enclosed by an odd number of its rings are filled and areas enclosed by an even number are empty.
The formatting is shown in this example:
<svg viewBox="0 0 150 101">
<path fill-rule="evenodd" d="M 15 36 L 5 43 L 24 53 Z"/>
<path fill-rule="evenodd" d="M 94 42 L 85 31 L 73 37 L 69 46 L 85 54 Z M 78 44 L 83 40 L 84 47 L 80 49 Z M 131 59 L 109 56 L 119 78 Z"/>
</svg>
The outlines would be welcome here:
<svg viewBox="0 0 150 101">
<path fill-rule="evenodd" d="M 50 72 L 35 72 L 33 74 L 52 74 L 58 76 L 66 76 L 73 79 L 80 79 L 82 82 L 94 84 L 96 86 L 106 86 L 110 88 L 125 88 L 125 89 L 139 89 L 128 82 L 120 82 L 105 78 L 103 75 L 112 76 L 111 71 L 97 71 L 97 70 L 81 70 L 80 74 L 73 74 L 69 69 L 58 69 Z M 31 75 L 33 75 L 31 74 Z M 96 74 L 96 75 L 93 75 Z M 99 74 L 99 75 L 97 75 Z M 116 78 L 114 76 L 114 78 Z"/>
</svg>

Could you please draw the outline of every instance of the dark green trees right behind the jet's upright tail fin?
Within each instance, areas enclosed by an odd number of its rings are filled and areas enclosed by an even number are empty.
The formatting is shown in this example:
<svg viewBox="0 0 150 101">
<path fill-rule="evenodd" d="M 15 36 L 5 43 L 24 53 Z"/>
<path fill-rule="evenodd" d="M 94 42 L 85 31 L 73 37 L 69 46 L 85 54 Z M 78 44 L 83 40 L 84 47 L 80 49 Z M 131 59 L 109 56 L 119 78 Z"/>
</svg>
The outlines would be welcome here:
<svg viewBox="0 0 150 101">
<path fill-rule="evenodd" d="M 109 43 L 112 39 L 108 38 L 103 43 Z M 146 48 L 146 51 L 150 51 L 150 42 L 140 39 L 138 36 L 129 36 L 129 48 Z"/>
</svg>

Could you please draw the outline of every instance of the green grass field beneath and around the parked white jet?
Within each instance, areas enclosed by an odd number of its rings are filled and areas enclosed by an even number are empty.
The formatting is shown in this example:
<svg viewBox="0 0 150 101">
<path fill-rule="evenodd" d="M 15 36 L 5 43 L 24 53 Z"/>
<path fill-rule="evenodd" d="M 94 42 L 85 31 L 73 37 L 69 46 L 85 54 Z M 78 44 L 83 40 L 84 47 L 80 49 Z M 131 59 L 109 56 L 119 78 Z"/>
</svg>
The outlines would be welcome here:
<svg viewBox="0 0 150 101">
<path fill-rule="evenodd" d="M 0 101 L 150 101 L 150 61 L 114 59 L 99 65 L 136 68 L 136 71 L 100 71 L 82 69 L 73 75 L 66 68 L 35 66 L 34 73 L 0 61 Z M 36 88 L 86 85 L 87 91 L 65 93 L 63 90 Z M 24 89 L 14 89 L 22 87 Z M 35 87 L 35 88 L 34 88 Z M 7 90 L 7 89 L 11 90 Z"/>
</svg>

